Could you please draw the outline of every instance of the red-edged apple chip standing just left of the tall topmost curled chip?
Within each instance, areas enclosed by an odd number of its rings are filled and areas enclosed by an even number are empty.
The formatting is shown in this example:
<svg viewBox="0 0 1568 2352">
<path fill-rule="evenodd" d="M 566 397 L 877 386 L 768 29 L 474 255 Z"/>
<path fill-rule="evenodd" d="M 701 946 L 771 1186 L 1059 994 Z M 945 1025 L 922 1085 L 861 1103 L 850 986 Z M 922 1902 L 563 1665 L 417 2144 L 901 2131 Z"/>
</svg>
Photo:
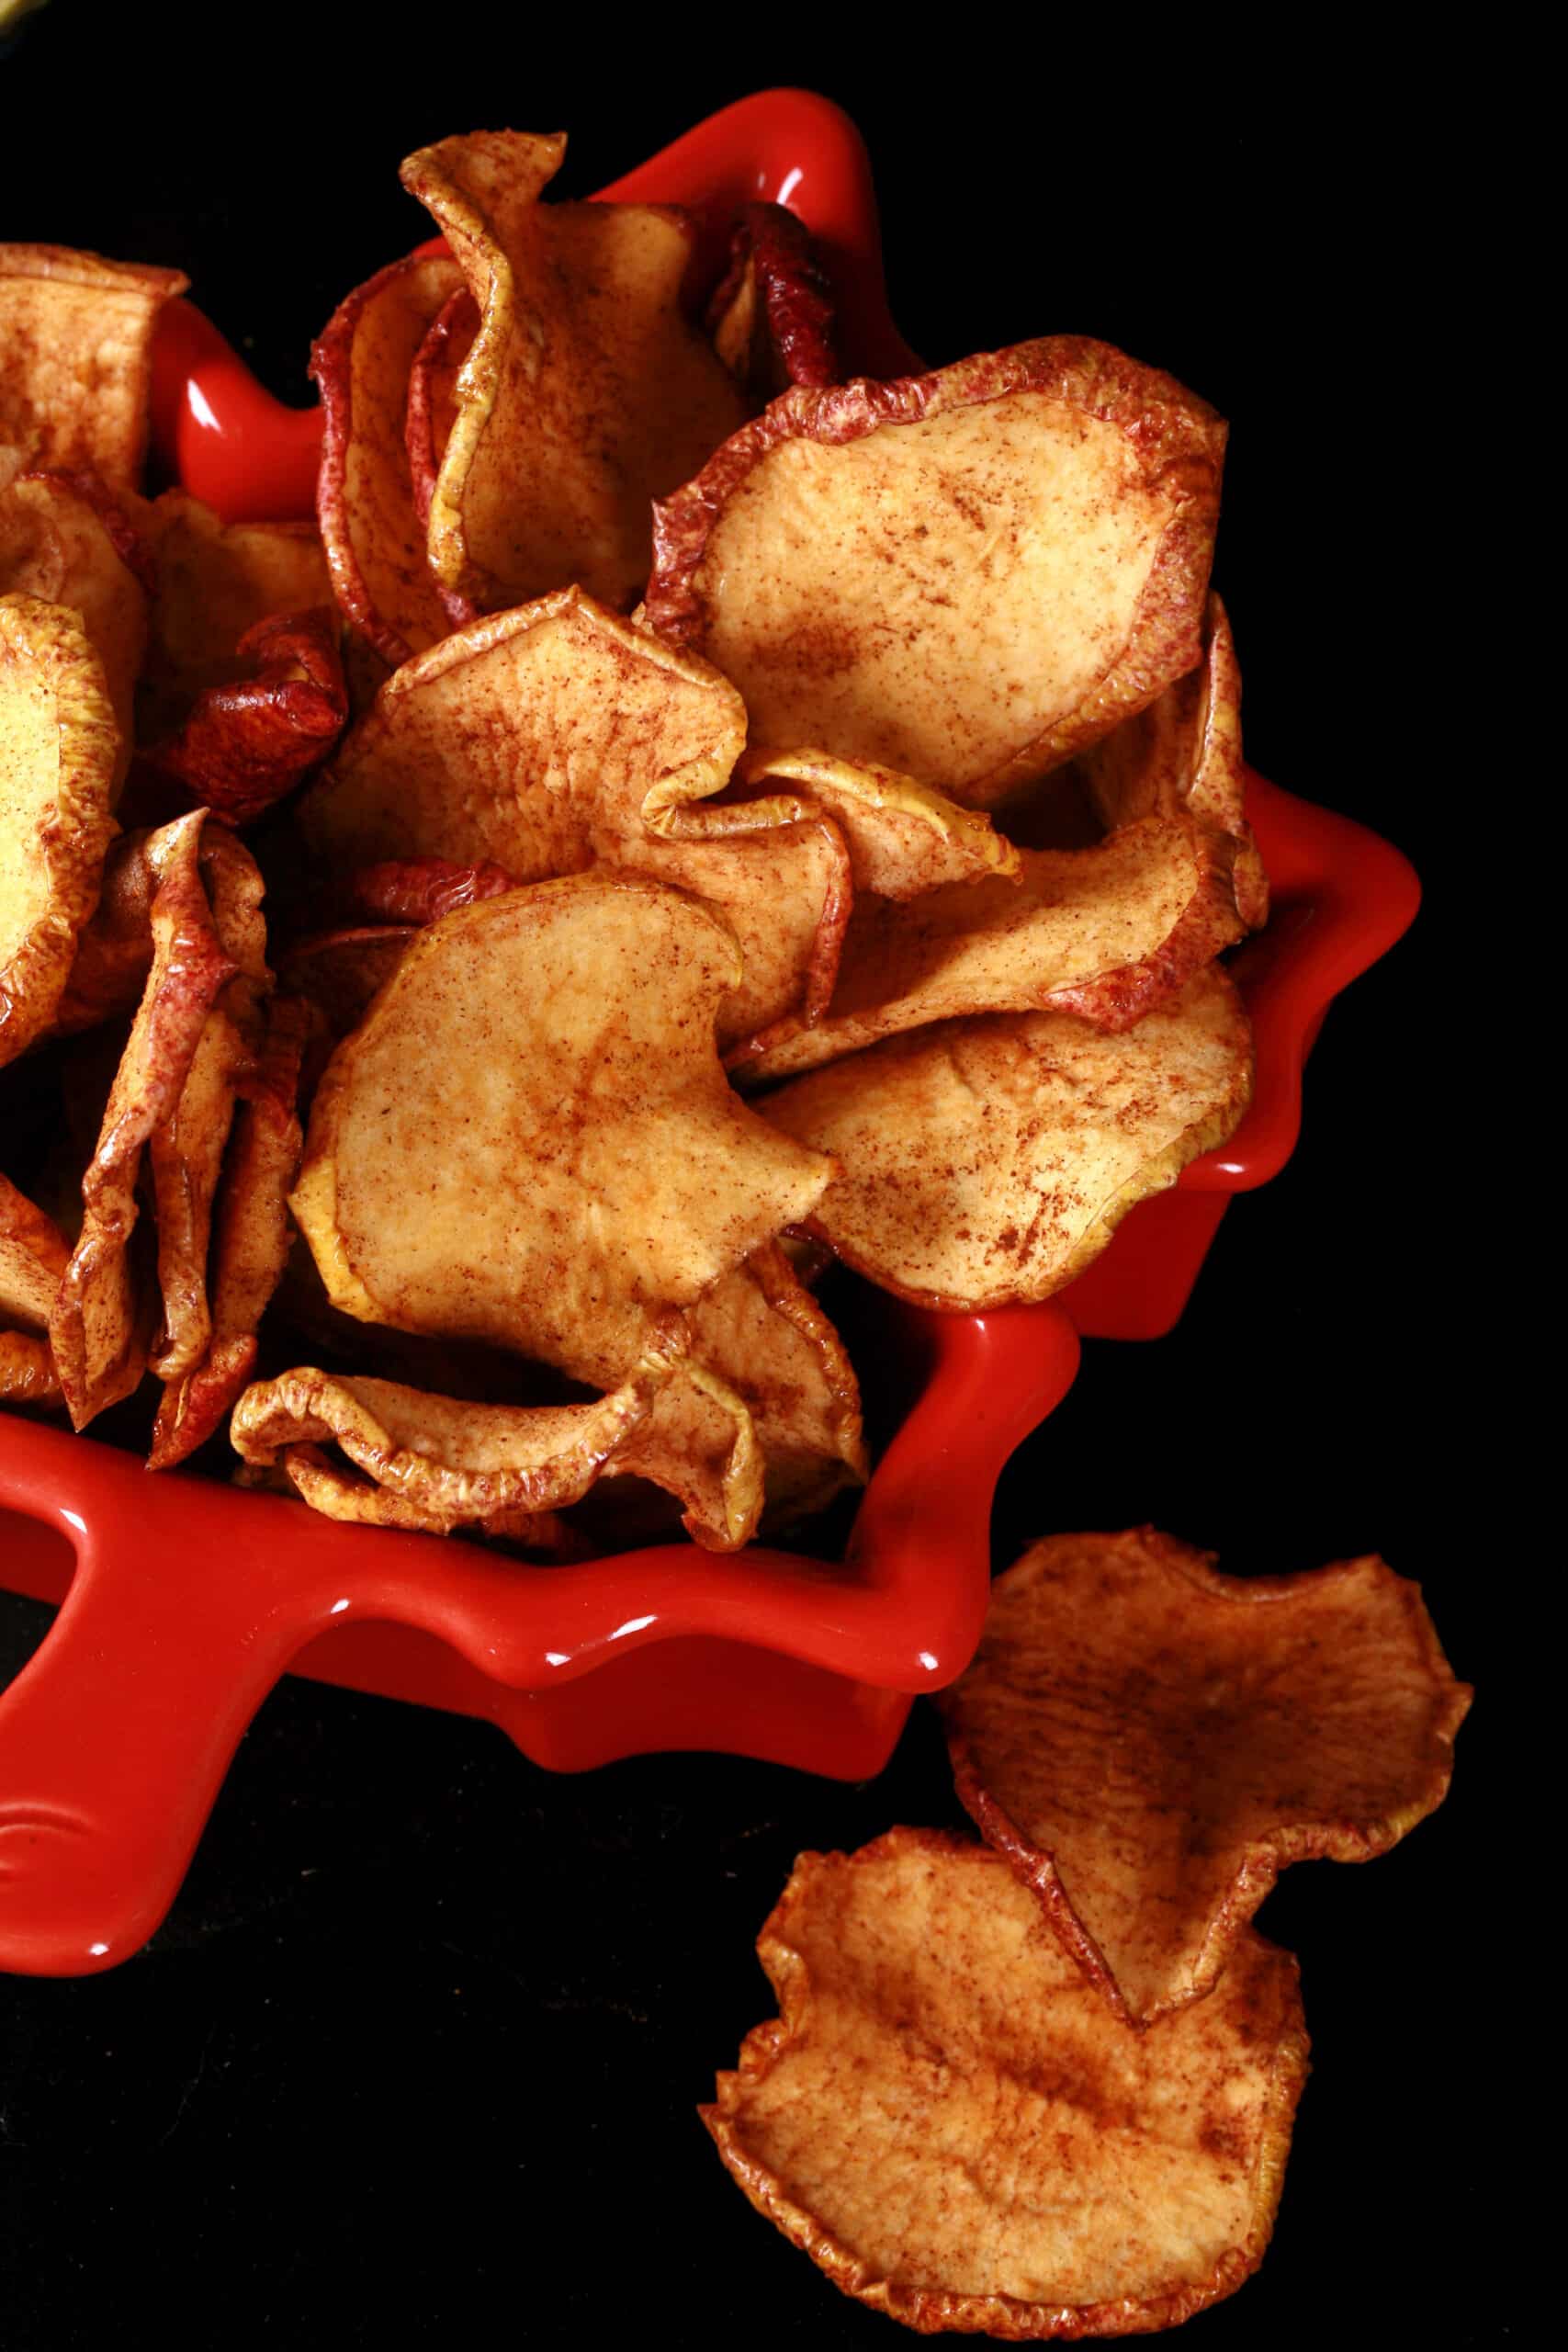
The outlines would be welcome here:
<svg viewBox="0 0 1568 2352">
<path fill-rule="evenodd" d="M 414 358 L 463 278 L 449 254 L 393 261 L 339 303 L 310 353 L 322 393 L 317 520 L 350 628 L 397 668 L 447 635 L 425 562 L 404 416 Z"/>
</svg>

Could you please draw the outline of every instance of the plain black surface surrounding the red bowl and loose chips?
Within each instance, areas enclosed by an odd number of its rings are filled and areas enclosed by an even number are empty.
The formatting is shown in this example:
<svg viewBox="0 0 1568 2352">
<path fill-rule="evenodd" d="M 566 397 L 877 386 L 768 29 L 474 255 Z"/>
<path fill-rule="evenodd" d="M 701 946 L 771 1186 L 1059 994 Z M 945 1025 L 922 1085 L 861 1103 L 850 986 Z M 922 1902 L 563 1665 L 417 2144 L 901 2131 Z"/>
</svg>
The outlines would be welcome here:
<svg viewBox="0 0 1568 2352">
<path fill-rule="evenodd" d="M 1121 21 L 1037 45 L 992 26 L 973 49 L 957 24 L 922 49 L 879 12 L 858 64 L 849 9 L 795 38 L 682 12 L 567 40 L 538 9 L 449 0 L 402 49 L 378 9 L 230 14 L 56 0 L 24 24 L 0 52 L 2 233 L 183 266 L 284 397 L 336 299 L 425 233 L 395 179 L 409 148 L 559 122 L 562 191 L 588 193 L 726 99 L 802 82 L 867 134 L 914 348 L 1100 334 L 1232 419 L 1215 579 L 1248 753 L 1401 842 L 1427 910 L 1333 1011 L 1302 1145 L 1232 1207 L 1178 1334 L 1091 1345 L 1013 1461 L 997 1557 L 1154 1519 L 1232 1569 L 1382 1550 L 1425 1583 L 1481 1684 L 1458 1785 L 1387 1860 L 1295 1870 L 1267 1903 L 1302 1957 L 1314 2077 L 1267 2265 L 1197 2328 L 1500 2340 L 1507 1592 L 1465 1303 L 1483 1171 L 1455 1087 L 1481 1073 L 1441 1011 L 1486 851 L 1429 397 L 1486 89 L 1460 148 L 1403 71 L 1265 61 L 1180 19 L 1159 49 Z M 0 1602 L 0 1675 L 42 1625 Z M 860 1790 L 708 1757 L 555 1780 L 489 1729 L 287 1684 L 150 1950 L 0 1983 L 0 2338 L 85 2345 L 146 2310 L 176 2343 L 463 2343 L 494 2310 L 538 2345 L 891 2343 L 750 2213 L 693 2105 L 771 2013 L 750 1943 L 792 1856 L 893 1820 L 959 1820 L 919 1717 Z"/>
</svg>

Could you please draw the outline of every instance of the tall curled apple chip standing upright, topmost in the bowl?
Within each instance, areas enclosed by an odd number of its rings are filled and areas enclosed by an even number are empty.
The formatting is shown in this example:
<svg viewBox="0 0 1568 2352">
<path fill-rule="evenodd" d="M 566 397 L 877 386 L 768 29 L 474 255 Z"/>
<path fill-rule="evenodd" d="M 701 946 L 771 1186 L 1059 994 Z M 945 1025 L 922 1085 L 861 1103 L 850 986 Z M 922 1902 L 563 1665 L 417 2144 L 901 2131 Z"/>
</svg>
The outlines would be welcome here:
<svg viewBox="0 0 1568 2352">
<path fill-rule="evenodd" d="M 651 501 L 745 414 L 682 310 L 691 233 L 661 205 L 541 205 L 559 134 L 475 132 L 402 165 L 480 327 L 430 496 L 435 579 L 482 612 L 581 581 L 630 604 Z"/>
</svg>

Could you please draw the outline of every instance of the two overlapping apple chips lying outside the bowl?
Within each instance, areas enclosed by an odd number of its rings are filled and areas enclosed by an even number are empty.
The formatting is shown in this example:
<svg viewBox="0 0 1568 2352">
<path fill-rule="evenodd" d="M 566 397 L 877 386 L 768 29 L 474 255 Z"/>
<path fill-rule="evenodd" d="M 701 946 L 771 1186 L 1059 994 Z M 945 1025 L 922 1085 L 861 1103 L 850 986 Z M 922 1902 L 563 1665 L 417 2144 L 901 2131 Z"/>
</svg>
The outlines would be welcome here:
<svg viewBox="0 0 1568 2352">
<path fill-rule="evenodd" d="M 1467 1708 L 1382 1559 L 1032 1545 L 940 1698 L 985 1844 L 799 1856 L 757 1943 L 780 2016 L 703 2107 L 724 2164 L 919 2331 L 1126 2336 L 1234 2293 L 1307 2079 L 1295 1959 L 1248 1922 L 1286 1863 L 1441 1804 Z"/>
</svg>

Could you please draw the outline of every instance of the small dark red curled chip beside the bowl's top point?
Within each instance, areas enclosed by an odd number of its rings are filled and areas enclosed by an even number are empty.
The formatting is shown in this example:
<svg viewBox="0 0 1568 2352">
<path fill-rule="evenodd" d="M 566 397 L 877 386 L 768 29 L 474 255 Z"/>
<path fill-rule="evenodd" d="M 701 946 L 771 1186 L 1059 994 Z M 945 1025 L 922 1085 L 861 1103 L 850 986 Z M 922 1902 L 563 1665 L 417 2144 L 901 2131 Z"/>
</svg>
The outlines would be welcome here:
<svg viewBox="0 0 1568 2352">
<path fill-rule="evenodd" d="M 757 405 L 792 383 L 839 381 L 832 289 L 811 230 L 783 205 L 743 207 L 708 303 L 708 334 Z"/>
</svg>

